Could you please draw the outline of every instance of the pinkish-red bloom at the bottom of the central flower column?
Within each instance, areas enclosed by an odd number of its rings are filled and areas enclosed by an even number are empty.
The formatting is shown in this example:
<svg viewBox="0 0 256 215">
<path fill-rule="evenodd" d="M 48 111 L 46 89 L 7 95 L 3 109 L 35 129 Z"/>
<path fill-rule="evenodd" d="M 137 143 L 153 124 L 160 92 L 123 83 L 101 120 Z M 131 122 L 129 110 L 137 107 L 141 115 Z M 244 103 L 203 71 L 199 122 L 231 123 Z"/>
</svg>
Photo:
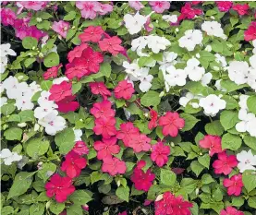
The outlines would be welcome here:
<svg viewBox="0 0 256 215">
<path fill-rule="evenodd" d="M 102 166 L 102 171 L 104 173 L 109 173 L 110 175 L 114 176 L 117 173 L 126 173 L 127 166 L 124 161 L 120 161 L 116 158 L 107 158 L 104 159 L 104 163 Z"/>
</svg>

